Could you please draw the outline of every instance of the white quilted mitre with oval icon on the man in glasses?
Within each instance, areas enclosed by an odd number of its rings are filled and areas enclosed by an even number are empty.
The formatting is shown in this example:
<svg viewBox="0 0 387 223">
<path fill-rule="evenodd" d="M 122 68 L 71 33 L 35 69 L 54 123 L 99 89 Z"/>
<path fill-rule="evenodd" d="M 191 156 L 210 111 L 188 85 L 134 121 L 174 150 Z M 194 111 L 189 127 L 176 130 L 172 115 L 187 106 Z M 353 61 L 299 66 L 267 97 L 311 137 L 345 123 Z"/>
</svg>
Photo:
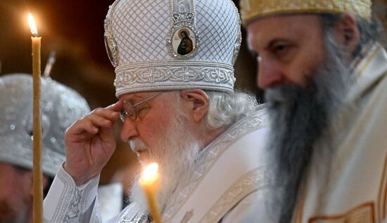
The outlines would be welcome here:
<svg viewBox="0 0 387 223">
<path fill-rule="evenodd" d="M 116 0 L 105 20 L 116 96 L 234 90 L 241 22 L 231 0 Z"/>
</svg>

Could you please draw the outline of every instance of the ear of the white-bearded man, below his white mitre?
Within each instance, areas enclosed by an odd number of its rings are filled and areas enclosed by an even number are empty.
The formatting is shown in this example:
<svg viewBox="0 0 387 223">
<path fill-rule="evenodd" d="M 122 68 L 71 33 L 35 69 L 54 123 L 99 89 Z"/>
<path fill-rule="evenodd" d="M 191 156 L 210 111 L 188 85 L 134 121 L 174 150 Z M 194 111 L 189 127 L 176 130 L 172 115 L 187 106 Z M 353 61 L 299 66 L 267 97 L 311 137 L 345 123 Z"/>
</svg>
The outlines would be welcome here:
<svg viewBox="0 0 387 223">
<path fill-rule="evenodd" d="M 180 96 L 184 101 L 189 102 L 189 112 L 194 117 L 194 121 L 199 122 L 208 112 L 208 95 L 200 89 L 181 90 Z"/>
</svg>

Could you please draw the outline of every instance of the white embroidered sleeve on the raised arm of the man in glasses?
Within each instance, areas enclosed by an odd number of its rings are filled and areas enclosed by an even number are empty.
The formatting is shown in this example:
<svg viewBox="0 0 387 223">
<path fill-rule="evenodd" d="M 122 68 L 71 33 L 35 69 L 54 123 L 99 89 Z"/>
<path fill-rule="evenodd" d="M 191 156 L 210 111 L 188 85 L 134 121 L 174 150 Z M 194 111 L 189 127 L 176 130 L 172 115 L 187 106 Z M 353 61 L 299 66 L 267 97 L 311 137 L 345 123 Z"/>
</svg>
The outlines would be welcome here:
<svg viewBox="0 0 387 223">
<path fill-rule="evenodd" d="M 44 222 L 101 222 L 96 197 L 98 184 L 99 176 L 77 187 L 72 177 L 61 166 L 44 199 Z"/>
</svg>

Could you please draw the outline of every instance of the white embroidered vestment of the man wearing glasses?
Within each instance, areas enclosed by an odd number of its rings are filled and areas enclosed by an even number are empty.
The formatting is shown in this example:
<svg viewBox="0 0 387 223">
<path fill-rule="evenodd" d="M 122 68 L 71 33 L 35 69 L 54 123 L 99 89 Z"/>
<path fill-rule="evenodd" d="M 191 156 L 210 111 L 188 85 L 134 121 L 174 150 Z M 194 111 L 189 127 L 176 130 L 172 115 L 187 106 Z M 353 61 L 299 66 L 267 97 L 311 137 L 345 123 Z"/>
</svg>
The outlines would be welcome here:
<svg viewBox="0 0 387 223">
<path fill-rule="evenodd" d="M 258 222 L 267 190 L 267 133 L 267 115 L 260 107 L 205 147 L 191 175 L 168 199 L 163 222 Z M 76 187 L 61 168 L 44 200 L 45 222 L 101 222 L 98 180 Z M 148 220 L 132 203 L 110 222 Z"/>
</svg>

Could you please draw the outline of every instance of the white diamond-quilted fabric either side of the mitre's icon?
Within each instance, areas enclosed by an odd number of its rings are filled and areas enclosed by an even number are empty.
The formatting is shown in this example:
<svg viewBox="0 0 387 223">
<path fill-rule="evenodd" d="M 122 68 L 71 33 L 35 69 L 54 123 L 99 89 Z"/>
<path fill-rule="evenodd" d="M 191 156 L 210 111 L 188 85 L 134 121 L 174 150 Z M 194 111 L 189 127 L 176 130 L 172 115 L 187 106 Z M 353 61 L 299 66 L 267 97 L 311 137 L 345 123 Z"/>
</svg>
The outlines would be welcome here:
<svg viewBox="0 0 387 223">
<path fill-rule="evenodd" d="M 196 26 L 201 33 L 201 45 L 193 59 L 231 65 L 239 32 L 234 8 L 224 0 L 195 1 Z M 165 0 L 118 1 L 112 18 L 113 33 L 120 52 L 120 65 L 144 61 L 173 61 L 167 50 L 166 36 L 170 31 L 170 4 Z M 125 6 L 120 6 L 126 4 Z M 156 20 L 157 18 L 157 20 Z M 163 22 L 161 22 L 163 21 Z M 131 32 L 128 32 L 130 30 Z M 230 37 L 231 36 L 231 37 Z"/>
</svg>

